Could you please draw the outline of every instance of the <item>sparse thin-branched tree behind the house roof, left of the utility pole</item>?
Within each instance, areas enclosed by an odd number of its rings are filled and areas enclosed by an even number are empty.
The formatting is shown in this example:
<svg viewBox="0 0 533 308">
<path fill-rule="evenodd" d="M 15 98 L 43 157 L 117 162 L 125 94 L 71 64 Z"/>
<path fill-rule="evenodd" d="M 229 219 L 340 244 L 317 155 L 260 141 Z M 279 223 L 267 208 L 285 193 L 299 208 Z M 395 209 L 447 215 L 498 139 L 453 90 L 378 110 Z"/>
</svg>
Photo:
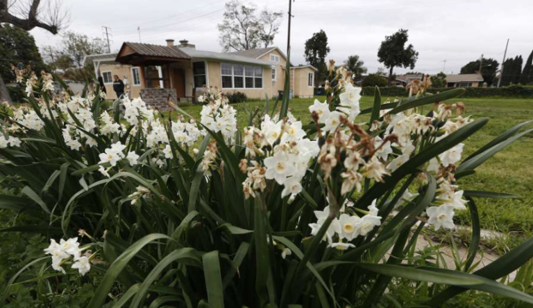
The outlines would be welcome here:
<svg viewBox="0 0 533 308">
<path fill-rule="evenodd" d="M 280 29 L 282 12 L 266 8 L 256 16 L 257 7 L 245 6 L 238 0 L 226 3 L 224 20 L 218 24 L 219 40 L 223 51 L 243 51 L 272 44 Z"/>
</svg>

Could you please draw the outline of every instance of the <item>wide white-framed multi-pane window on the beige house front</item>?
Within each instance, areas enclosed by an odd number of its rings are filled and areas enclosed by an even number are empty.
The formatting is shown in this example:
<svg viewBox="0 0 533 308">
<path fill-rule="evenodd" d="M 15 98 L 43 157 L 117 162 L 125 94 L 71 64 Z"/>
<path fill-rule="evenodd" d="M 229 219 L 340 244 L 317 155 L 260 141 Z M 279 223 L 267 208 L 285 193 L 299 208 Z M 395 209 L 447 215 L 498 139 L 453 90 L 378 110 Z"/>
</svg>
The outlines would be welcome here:
<svg viewBox="0 0 533 308">
<path fill-rule="evenodd" d="M 252 89 L 263 87 L 263 69 L 260 66 L 221 63 L 223 89 Z"/>
</svg>

